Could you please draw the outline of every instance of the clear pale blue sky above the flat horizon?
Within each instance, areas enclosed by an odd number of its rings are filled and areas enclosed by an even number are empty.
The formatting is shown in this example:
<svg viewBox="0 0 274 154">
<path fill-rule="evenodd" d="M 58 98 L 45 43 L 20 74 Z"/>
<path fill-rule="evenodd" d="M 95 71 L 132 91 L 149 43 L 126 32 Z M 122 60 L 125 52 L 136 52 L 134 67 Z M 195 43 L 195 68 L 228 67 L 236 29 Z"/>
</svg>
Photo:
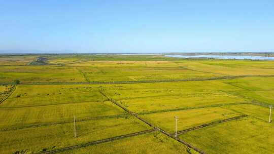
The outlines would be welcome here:
<svg viewBox="0 0 274 154">
<path fill-rule="evenodd" d="M 0 0 L 0 53 L 274 52 L 274 1 Z"/>
</svg>

